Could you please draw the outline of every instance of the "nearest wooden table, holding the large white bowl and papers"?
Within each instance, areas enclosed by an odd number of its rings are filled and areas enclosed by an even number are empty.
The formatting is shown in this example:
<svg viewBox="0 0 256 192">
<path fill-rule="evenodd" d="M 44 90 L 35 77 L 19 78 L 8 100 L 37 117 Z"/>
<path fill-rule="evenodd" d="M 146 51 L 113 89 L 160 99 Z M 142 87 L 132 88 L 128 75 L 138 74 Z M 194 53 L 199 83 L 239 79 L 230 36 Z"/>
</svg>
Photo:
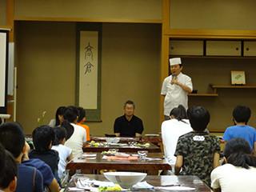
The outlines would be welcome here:
<svg viewBox="0 0 256 192">
<path fill-rule="evenodd" d="M 95 179 L 98 181 L 107 181 L 106 178 L 103 175 L 93 175 L 93 174 L 79 174 L 78 177 L 85 177 L 85 178 L 90 178 L 90 179 Z M 76 178 L 76 175 L 73 177 L 74 179 Z M 194 190 L 182 190 L 182 191 L 202 191 L 202 192 L 212 192 L 213 190 L 210 190 L 210 187 L 206 186 L 204 182 L 200 180 L 197 176 L 174 176 L 174 175 L 164 175 L 164 176 L 156 176 L 156 175 L 148 175 L 144 179 L 144 181 L 148 182 L 152 186 L 166 186 L 170 184 L 179 184 L 180 186 L 186 186 L 186 187 L 191 187 L 194 188 Z M 68 186 L 66 187 L 65 191 L 71 191 L 69 190 L 69 187 L 74 187 L 74 181 L 73 179 L 70 180 Z M 72 190 L 76 191 L 76 190 Z M 77 190 L 78 191 L 78 190 Z M 81 191 L 81 190 L 79 190 Z M 167 191 L 167 190 L 138 190 L 138 191 Z M 177 191 L 177 190 L 171 190 L 171 191 Z"/>
</svg>

